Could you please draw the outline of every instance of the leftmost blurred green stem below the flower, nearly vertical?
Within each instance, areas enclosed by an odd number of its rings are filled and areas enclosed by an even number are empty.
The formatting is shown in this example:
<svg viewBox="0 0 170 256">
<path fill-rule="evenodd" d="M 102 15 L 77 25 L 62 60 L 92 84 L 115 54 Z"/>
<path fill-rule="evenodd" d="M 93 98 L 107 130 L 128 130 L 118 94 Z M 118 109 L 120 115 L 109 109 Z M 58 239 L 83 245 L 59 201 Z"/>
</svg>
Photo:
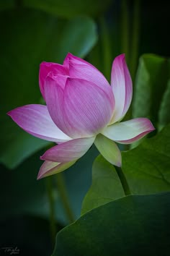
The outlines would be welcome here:
<svg viewBox="0 0 170 256">
<path fill-rule="evenodd" d="M 51 233 L 52 244 L 54 246 L 57 230 L 56 230 L 56 221 L 55 221 L 55 200 L 53 197 L 53 184 L 50 176 L 45 178 L 45 181 L 46 181 L 46 188 L 48 192 L 48 202 L 49 202 L 49 208 L 50 208 L 50 233 Z"/>
</svg>

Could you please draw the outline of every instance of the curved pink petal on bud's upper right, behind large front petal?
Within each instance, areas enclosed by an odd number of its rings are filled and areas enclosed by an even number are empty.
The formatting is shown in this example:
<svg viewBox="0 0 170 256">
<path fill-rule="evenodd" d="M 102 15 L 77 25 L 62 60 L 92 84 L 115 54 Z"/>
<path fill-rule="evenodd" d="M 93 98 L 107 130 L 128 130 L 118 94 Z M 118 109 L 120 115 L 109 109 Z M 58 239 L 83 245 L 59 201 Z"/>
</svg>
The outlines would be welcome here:
<svg viewBox="0 0 170 256">
<path fill-rule="evenodd" d="M 63 66 L 69 69 L 69 76 L 71 78 L 84 79 L 94 83 L 99 88 L 104 90 L 110 101 L 114 101 L 109 82 L 107 82 L 104 75 L 89 62 L 81 58 L 68 54 L 63 62 Z"/>
</svg>

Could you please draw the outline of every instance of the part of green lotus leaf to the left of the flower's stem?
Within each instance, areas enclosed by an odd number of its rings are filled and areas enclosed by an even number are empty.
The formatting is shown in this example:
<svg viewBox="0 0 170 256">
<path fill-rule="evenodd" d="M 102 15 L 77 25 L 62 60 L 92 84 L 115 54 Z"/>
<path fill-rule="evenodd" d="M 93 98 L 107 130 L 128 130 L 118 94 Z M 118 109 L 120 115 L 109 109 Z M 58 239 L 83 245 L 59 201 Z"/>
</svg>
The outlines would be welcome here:
<svg viewBox="0 0 170 256">
<path fill-rule="evenodd" d="M 92 184 L 84 197 L 81 213 L 97 208 L 107 202 L 125 197 L 115 167 L 98 155 L 92 167 Z"/>
</svg>

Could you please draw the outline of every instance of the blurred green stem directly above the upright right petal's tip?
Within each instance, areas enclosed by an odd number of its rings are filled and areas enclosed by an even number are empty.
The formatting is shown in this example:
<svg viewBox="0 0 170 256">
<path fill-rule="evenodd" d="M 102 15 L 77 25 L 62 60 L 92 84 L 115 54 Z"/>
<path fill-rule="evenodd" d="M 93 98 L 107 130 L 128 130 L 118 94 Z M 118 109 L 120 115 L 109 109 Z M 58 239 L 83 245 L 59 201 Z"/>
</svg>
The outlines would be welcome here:
<svg viewBox="0 0 170 256">
<path fill-rule="evenodd" d="M 126 62 L 129 61 L 129 14 L 128 0 L 121 1 L 121 52 L 126 54 Z"/>
</svg>

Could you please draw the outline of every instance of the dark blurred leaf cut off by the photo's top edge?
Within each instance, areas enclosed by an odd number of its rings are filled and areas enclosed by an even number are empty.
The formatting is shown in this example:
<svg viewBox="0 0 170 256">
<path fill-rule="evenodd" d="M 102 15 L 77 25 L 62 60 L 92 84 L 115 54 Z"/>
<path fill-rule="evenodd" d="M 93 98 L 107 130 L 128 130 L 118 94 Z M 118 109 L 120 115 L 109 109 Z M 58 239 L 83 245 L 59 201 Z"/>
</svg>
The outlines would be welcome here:
<svg viewBox="0 0 170 256">
<path fill-rule="evenodd" d="M 42 9 L 58 17 L 71 18 L 77 15 L 99 16 L 106 11 L 111 0 L 23 0 L 24 6 Z"/>
</svg>

